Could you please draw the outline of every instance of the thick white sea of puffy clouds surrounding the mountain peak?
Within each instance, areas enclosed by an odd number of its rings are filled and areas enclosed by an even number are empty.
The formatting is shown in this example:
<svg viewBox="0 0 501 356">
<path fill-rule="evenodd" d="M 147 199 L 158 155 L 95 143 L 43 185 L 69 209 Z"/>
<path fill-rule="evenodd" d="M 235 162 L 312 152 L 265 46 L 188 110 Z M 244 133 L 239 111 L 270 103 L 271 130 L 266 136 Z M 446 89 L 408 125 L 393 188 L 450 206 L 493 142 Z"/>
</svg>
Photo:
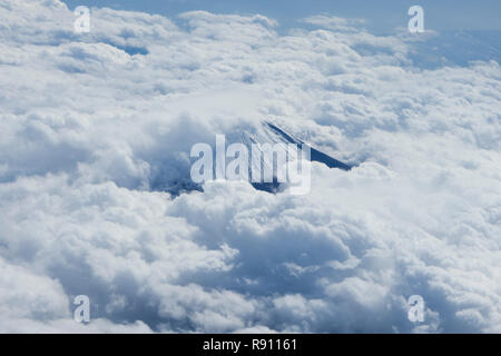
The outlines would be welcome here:
<svg viewBox="0 0 501 356">
<path fill-rule="evenodd" d="M 499 62 L 337 18 L 75 18 L 0 4 L 0 330 L 501 330 Z M 356 166 L 191 191 L 191 146 L 264 119 Z"/>
</svg>

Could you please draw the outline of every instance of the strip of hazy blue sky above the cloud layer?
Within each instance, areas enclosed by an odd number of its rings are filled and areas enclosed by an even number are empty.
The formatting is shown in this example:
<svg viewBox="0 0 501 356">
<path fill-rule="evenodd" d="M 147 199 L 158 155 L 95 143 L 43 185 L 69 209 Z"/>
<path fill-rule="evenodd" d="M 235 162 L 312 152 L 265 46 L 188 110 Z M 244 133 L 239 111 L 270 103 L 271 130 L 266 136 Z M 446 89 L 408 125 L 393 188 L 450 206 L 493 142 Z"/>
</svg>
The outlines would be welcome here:
<svg viewBox="0 0 501 356">
<path fill-rule="evenodd" d="M 406 27 L 409 7 L 420 4 L 425 12 L 428 29 L 501 30 L 501 1 L 498 0 L 65 0 L 73 9 L 79 4 L 145 11 L 168 17 L 190 10 L 217 13 L 261 13 L 284 27 L 296 26 L 297 19 L 326 13 L 344 18 L 363 18 L 373 32 L 392 32 Z"/>
</svg>

